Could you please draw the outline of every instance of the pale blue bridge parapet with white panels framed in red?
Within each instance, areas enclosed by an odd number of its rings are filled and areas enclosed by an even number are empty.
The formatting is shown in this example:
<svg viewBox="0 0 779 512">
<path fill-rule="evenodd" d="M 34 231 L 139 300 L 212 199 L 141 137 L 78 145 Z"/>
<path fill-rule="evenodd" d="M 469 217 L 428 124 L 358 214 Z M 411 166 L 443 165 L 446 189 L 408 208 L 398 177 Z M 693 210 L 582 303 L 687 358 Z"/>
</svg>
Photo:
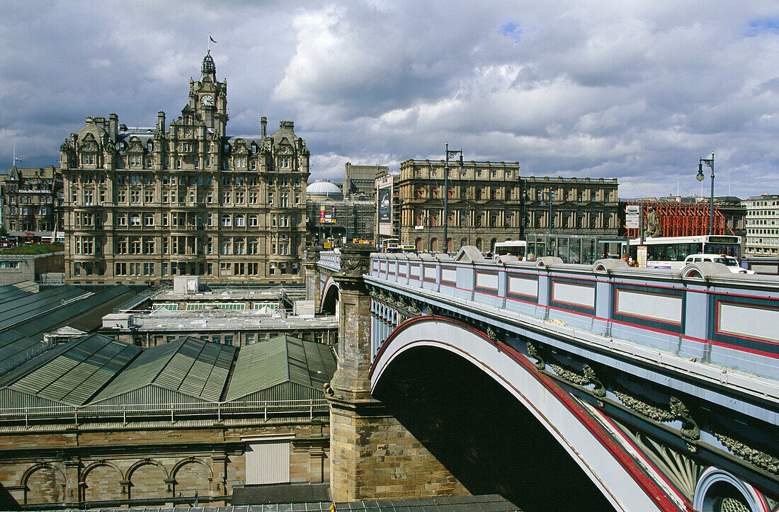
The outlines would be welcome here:
<svg viewBox="0 0 779 512">
<path fill-rule="evenodd" d="M 467 248 L 455 257 L 373 253 L 370 277 L 545 320 L 548 329 L 573 328 L 579 337 L 593 334 L 594 344 L 629 348 L 656 362 L 676 355 L 675 365 L 698 372 L 700 363 L 710 363 L 708 373 L 722 383 L 735 379 L 728 369 L 779 380 L 779 277 L 731 274 L 726 267 L 631 268 L 615 260 L 485 259 Z"/>
</svg>

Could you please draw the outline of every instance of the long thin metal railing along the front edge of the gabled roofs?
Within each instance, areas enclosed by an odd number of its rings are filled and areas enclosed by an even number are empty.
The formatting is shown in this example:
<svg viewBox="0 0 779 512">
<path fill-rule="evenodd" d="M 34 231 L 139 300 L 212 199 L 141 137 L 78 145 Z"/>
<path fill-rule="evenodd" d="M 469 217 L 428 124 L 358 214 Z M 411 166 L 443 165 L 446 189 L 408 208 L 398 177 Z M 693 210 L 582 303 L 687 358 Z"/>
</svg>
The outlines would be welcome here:
<svg viewBox="0 0 779 512">
<path fill-rule="evenodd" d="M 86 405 L 50 405 L 41 407 L 0 408 L 0 422 L 21 422 L 29 425 L 34 420 L 72 420 L 74 425 L 79 422 L 107 421 L 110 418 L 127 423 L 132 418 L 150 416 L 157 418 L 176 419 L 193 418 L 197 416 L 216 416 L 217 421 L 225 417 L 262 416 L 267 420 L 270 416 L 295 415 L 314 418 L 315 414 L 329 411 L 325 398 L 309 398 L 308 400 L 284 401 L 220 401 L 171 404 L 86 404 Z"/>
</svg>

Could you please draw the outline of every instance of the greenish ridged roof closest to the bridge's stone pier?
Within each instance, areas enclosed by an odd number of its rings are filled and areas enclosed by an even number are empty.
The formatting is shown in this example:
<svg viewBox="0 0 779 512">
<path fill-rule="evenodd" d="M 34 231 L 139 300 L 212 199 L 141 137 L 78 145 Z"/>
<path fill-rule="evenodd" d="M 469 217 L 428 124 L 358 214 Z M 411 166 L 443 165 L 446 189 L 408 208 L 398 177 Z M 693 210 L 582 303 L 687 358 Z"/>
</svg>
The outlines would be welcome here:
<svg viewBox="0 0 779 512">
<path fill-rule="evenodd" d="M 286 334 L 277 336 L 241 347 L 224 400 L 245 397 L 287 381 L 322 389 L 335 369 L 335 356 L 327 345 Z"/>
</svg>

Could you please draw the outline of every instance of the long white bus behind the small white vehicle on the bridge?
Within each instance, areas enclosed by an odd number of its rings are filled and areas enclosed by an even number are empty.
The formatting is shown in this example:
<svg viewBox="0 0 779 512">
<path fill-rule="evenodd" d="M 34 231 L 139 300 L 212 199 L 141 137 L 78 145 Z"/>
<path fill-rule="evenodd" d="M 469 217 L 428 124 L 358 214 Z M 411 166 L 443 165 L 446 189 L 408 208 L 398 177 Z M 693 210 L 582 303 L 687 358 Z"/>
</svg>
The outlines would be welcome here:
<svg viewBox="0 0 779 512">
<path fill-rule="evenodd" d="M 633 238 L 628 245 L 629 255 L 637 260 L 639 245 L 647 247 L 648 268 L 684 267 L 684 260 L 690 254 L 723 254 L 741 260 L 741 237 L 728 235 L 672 236 Z"/>
</svg>

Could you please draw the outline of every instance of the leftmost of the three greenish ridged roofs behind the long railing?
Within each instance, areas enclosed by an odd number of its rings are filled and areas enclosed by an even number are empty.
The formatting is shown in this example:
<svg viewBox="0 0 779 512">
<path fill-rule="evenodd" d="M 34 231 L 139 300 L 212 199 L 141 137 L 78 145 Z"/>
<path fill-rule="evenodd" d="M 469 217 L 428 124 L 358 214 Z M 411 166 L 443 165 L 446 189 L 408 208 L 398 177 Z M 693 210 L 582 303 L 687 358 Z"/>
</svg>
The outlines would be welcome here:
<svg viewBox="0 0 779 512">
<path fill-rule="evenodd" d="M 101 334 L 63 347 L 9 387 L 62 404 L 85 404 L 141 351 Z"/>
</svg>

